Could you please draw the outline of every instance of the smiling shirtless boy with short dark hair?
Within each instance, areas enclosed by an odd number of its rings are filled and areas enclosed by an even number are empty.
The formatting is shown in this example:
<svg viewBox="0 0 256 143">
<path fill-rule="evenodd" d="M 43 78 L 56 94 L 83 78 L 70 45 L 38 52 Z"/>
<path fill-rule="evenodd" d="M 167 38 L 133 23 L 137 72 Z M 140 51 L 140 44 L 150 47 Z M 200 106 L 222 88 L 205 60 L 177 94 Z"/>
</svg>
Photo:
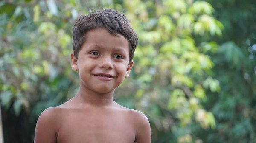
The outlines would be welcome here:
<svg viewBox="0 0 256 143">
<path fill-rule="evenodd" d="M 35 143 L 151 143 L 148 118 L 113 101 L 114 90 L 129 76 L 138 42 L 125 15 L 105 9 L 81 16 L 72 36 L 79 92 L 41 113 Z"/>
</svg>

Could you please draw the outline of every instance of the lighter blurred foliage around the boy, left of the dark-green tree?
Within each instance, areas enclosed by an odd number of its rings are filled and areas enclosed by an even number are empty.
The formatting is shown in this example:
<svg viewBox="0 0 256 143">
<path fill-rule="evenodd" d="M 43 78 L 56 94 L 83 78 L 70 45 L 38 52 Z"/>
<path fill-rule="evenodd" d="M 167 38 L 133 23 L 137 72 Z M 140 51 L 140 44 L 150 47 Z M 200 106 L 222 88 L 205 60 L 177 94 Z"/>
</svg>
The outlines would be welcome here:
<svg viewBox="0 0 256 143">
<path fill-rule="evenodd" d="M 76 94 L 79 77 L 69 59 L 73 23 L 79 14 L 102 8 L 124 12 L 140 40 L 131 76 L 116 90 L 115 100 L 148 116 L 153 143 L 201 143 L 191 126 L 215 128 L 215 118 L 202 101 L 220 92 L 208 55 L 219 46 L 204 37 L 221 36 L 223 25 L 212 17 L 209 3 L 4 0 L 0 90 L 6 143 L 31 143 L 40 113 Z"/>
</svg>

